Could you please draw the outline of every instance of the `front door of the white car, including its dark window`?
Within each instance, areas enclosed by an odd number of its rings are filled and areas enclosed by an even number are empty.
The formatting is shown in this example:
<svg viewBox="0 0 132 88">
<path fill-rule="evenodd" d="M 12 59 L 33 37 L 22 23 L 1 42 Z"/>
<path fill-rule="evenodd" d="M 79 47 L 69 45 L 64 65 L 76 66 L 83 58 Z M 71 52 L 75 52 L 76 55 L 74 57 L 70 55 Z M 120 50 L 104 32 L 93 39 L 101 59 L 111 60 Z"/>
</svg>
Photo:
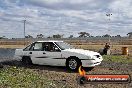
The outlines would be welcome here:
<svg viewBox="0 0 132 88">
<path fill-rule="evenodd" d="M 45 42 L 44 51 L 46 58 L 43 60 L 47 62 L 48 65 L 64 65 L 65 60 L 62 57 L 61 50 L 53 42 Z"/>
</svg>

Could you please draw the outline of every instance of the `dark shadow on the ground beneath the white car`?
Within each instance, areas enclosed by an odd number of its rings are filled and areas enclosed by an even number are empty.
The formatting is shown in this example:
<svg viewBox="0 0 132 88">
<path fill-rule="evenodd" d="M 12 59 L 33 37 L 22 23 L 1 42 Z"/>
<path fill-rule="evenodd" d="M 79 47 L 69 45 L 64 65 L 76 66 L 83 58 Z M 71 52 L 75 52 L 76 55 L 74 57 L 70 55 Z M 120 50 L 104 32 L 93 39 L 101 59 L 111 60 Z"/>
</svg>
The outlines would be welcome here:
<svg viewBox="0 0 132 88">
<path fill-rule="evenodd" d="M 49 65 L 36 65 L 36 64 L 26 65 L 26 64 L 23 64 L 21 61 L 17 61 L 17 60 L 3 61 L 3 62 L 1 62 L 1 64 L 3 66 L 8 65 L 8 66 L 24 67 L 24 68 L 37 69 L 37 70 L 48 70 L 48 71 L 66 72 L 66 73 L 78 73 L 78 71 L 73 72 L 73 71 L 67 70 L 65 66 L 49 66 Z M 83 69 L 86 72 L 91 71 L 91 68 L 89 69 L 89 68 L 83 67 Z"/>
</svg>

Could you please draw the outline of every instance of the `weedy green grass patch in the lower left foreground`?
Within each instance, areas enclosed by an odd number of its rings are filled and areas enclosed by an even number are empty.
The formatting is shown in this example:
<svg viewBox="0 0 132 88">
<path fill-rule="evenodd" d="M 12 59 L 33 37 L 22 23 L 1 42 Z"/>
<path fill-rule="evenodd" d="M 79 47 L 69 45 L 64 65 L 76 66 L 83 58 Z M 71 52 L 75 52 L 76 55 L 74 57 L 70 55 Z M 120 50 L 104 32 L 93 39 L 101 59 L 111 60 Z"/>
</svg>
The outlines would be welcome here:
<svg viewBox="0 0 132 88">
<path fill-rule="evenodd" d="M 62 88 L 44 74 L 23 67 L 0 69 L 0 88 Z M 66 87 L 65 87 L 66 88 Z"/>
</svg>

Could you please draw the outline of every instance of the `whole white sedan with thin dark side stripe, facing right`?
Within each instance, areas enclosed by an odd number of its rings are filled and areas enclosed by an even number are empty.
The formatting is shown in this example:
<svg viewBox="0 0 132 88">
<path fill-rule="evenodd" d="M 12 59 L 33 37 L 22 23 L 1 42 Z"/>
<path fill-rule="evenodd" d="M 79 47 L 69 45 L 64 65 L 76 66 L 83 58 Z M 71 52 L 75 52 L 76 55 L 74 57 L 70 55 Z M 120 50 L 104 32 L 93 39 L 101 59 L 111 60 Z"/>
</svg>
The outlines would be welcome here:
<svg viewBox="0 0 132 88">
<path fill-rule="evenodd" d="M 63 41 L 37 41 L 24 49 L 16 49 L 15 58 L 26 64 L 66 66 L 78 70 L 79 66 L 95 67 L 101 64 L 102 56 L 93 51 L 75 49 Z"/>
</svg>

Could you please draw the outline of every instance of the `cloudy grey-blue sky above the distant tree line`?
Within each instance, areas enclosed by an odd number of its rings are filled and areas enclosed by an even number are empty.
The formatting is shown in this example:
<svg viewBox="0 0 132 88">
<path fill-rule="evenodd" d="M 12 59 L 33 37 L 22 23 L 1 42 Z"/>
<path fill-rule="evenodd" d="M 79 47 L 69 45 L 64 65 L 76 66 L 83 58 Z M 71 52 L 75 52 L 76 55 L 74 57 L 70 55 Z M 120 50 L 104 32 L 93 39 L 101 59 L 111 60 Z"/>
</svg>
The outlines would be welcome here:
<svg viewBox="0 0 132 88">
<path fill-rule="evenodd" d="M 26 35 L 33 37 L 83 31 L 126 36 L 132 32 L 132 0 L 0 0 L 0 36 L 23 37 L 25 19 Z"/>
</svg>

